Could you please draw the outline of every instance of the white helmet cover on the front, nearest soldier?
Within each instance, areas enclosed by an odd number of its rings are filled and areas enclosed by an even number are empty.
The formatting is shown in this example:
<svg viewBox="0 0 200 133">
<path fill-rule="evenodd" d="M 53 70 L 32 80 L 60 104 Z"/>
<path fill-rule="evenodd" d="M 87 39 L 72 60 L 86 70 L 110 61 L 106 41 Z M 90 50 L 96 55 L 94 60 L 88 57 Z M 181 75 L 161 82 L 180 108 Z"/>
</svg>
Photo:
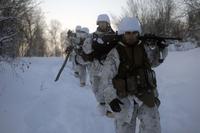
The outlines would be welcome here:
<svg viewBox="0 0 200 133">
<path fill-rule="evenodd" d="M 141 34 L 141 25 L 136 17 L 125 17 L 119 23 L 118 34 L 124 34 L 127 31 L 138 31 Z"/>
</svg>

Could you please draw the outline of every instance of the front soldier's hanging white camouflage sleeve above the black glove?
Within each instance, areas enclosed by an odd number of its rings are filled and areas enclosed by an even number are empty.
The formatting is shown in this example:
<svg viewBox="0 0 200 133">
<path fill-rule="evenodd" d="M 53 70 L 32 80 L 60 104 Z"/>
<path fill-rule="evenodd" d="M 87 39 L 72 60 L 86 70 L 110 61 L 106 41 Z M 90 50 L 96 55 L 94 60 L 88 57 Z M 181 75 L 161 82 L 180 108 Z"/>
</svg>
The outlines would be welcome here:
<svg viewBox="0 0 200 133">
<path fill-rule="evenodd" d="M 116 76 L 119 67 L 119 55 L 116 49 L 112 49 L 103 62 L 102 78 L 104 84 L 104 98 L 110 103 L 117 98 L 116 90 L 113 88 L 112 79 Z"/>
</svg>

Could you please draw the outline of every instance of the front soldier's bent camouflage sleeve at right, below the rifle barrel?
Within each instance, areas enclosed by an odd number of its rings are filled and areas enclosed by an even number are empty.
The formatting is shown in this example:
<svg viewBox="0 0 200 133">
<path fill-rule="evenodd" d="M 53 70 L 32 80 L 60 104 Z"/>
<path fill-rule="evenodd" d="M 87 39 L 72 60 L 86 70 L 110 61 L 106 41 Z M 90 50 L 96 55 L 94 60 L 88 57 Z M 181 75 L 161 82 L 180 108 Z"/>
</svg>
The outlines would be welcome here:
<svg viewBox="0 0 200 133">
<path fill-rule="evenodd" d="M 157 45 L 155 45 L 153 48 L 150 46 L 145 46 L 145 51 L 152 67 L 159 66 L 162 63 L 160 62 L 160 59 L 164 60 L 168 55 L 167 47 L 164 49 L 159 49 Z"/>
</svg>

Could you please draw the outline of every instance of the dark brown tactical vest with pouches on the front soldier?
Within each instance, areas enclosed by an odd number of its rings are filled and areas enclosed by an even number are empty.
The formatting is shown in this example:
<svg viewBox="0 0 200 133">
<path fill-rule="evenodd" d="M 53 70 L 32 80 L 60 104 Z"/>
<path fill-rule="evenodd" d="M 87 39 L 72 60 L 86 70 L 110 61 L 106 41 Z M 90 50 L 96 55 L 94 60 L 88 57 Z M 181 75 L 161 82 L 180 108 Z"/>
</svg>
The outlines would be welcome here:
<svg viewBox="0 0 200 133">
<path fill-rule="evenodd" d="M 135 95 L 149 107 L 155 105 L 154 91 L 147 82 L 146 71 L 151 70 L 149 60 L 142 44 L 133 47 L 116 47 L 120 65 L 118 74 L 113 79 L 114 88 L 119 97 Z"/>
</svg>

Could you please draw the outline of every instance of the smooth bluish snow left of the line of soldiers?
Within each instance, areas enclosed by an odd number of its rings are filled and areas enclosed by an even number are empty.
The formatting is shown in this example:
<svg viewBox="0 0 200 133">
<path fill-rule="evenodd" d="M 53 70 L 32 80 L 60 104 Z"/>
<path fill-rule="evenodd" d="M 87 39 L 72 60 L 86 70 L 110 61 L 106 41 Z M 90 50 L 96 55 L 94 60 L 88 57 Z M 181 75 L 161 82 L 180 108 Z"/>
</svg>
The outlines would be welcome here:
<svg viewBox="0 0 200 133">
<path fill-rule="evenodd" d="M 80 88 L 69 67 L 54 78 L 60 58 L 31 58 L 18 75 L 0 74 L 0 133 L 109 133 L 111 120 L 101 117 L 89 87 Z M 6 67 L 7 65 L 5 65 Z M 4 67 L 4 68 L 5 68 Z"/>
</svg>

